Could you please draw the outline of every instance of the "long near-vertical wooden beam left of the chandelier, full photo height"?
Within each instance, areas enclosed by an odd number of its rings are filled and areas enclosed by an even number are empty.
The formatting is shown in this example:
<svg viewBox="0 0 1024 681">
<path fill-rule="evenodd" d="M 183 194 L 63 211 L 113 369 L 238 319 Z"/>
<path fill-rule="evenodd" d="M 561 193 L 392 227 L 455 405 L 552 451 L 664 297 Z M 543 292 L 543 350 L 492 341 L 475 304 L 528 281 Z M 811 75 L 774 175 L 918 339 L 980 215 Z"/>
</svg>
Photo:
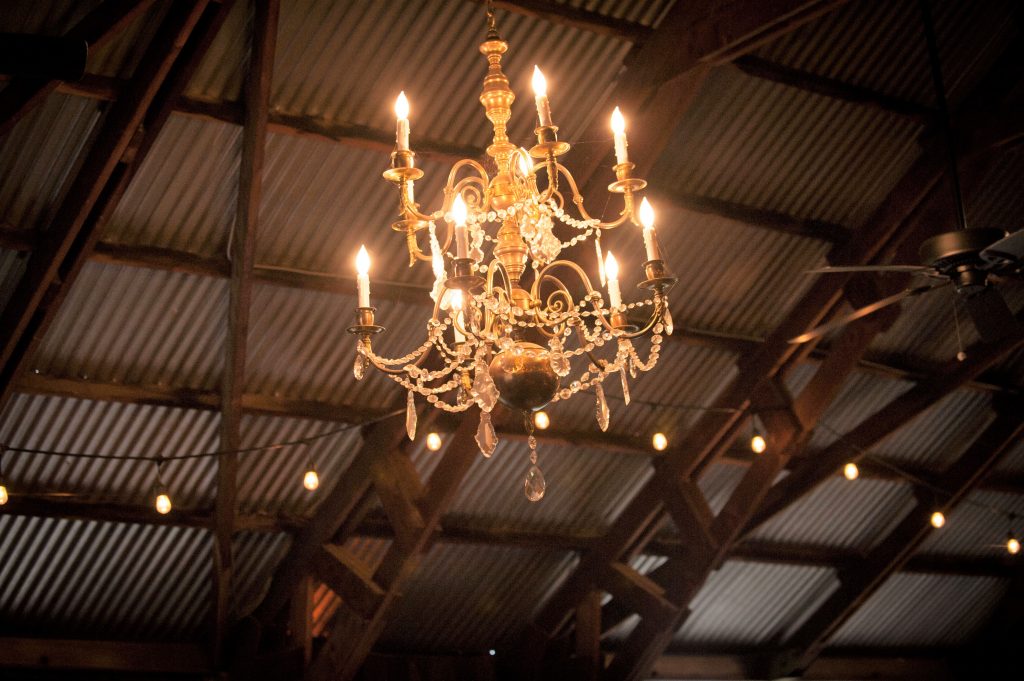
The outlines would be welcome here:
<svg viewBox="0 0 1024 681">
<path fill-rule="evenodd" d="M 244 122 L 238 207 L 228 239 L 231 275 L 228 286 L 227 337 L 224 341 L 224 373 L 220 385 L 220 445 L 226 451 L 242 449 L 242 399 L 246 387 L 252 272 L 256 257 L 256 235 L 259 230 L 266 123 L 279 14 L 279 0 L 254 0 L 249 62 L 243 87 Z M 217 457 L 213 527 L 213 658 L 218 666 L 223 666 L 225 662 L 224 644 L 230 629 L 238 468 L 237 454 Z"/>
</svg>

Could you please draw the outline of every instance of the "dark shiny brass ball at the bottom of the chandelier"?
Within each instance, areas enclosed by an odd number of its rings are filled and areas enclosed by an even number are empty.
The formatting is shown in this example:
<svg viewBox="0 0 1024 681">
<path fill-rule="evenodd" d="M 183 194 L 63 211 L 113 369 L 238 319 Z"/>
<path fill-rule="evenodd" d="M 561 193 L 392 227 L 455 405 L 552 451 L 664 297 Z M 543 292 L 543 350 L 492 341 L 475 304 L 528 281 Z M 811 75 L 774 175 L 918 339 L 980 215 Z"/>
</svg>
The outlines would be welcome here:
<svg viewBox="0 0 1024 681">
<path fill-rule="evenodd" d="M 488 371 L 498 386 L 498 398 L 514 410 L 537 411 L 558 392 L 558 375 L 551 368 L 551 357 L 536 343 L 519 341 L 499 352 Z"/>
</svg>

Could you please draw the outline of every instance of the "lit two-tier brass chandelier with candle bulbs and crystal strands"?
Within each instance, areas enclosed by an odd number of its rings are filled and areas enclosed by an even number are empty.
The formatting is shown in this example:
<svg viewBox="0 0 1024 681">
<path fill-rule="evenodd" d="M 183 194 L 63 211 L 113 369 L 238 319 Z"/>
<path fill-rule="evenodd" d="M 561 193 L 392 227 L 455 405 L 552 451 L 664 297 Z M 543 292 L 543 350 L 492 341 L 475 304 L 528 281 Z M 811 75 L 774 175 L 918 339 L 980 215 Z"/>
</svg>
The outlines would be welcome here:
<svg viewBox="0 0 1024 681">
<path fill-rule="evenodd" d="M 611 116 L 615 181 L 608 190 L 621 195 L 623 209 L 613 221 L 591 217 L 575 180 L 559 161 L 569 144 L 558 139 L 546 82 L 536 67 L 537 143 L 526 151 L 509 140 L 506 127 L 515 95 L 501 68 L 508 43 L 498 35 L 489 9 L 487 18 L 480 52 L 488 66 L 480 103 L 494 127 L 486 150 L 490 162 L 487 167 L 474 159 L 455 163 L 436 211 L 425 212 L 416 201 L 415 182 L 424 173 L 410 147 L 403 92 L 395 102 L 395 150 L 384 177 L 398 188 L 400 219 L 391 226 L 406 235 L 410 266 L 427 261 L 433 268 L 433 313 L 426 321 L 426 339 L 399 357 L 374 351 L 373 337 L 384 328 L 377 325 L 370 304 L 365 247 L 356 257 L 356 323 L 348 331 L 358 337 L 355 378 L 361 379 L 372 365 L 407 389 L 411 439 L 417 394 L 445 412 L 478 407 L 476 443 L 484 457 L 498 443 L 490 420 L 495 406 L 501 401 L 522 413 L 530 459 L 523 486 L 526 498 L 538 501 L 546 481 L 538 466 L 532 413 L 592 390 L 597 423 L 606 430 L 610 411 L 602 383 L 617 375 L 629 405 L 629 379 L 653 369 L 663 334 L 672 334 L 667 293 L 676 279 L 662 259 L 650 204 L 646 199 L 637 204 L 636 194 L 646 181 L 632 176 L 635 165 L 629 161 L 626 123 L 617 108 Z M 648 298 L 629 303 L 623 301 L 614 255 L 608 251 L 605 256 L 601 249 L 602 233 L 626 224 L 639 227 L 643 238 L 647 259 L 638 286 L 649 292 Z M 579 262 L 578 247 L 588 241 L 593 242 L 606 295 Z M 644 358 L 632 341 L 648 335 Z"/>
</svg>

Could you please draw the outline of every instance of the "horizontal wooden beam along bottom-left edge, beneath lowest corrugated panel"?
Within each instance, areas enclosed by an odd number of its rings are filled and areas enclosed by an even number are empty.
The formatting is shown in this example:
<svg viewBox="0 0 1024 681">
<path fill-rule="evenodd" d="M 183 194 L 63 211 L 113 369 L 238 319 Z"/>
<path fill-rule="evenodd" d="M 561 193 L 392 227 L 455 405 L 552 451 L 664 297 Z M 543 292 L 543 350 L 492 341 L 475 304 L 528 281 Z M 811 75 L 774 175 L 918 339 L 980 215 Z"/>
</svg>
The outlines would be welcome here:
<svg viewBox="0 0 1024 681">
<path fill-rule="evenodd" d="M 194 643 L 0 638 L 0 669 L 199 675 L 212 666 Z"/>
</svg>

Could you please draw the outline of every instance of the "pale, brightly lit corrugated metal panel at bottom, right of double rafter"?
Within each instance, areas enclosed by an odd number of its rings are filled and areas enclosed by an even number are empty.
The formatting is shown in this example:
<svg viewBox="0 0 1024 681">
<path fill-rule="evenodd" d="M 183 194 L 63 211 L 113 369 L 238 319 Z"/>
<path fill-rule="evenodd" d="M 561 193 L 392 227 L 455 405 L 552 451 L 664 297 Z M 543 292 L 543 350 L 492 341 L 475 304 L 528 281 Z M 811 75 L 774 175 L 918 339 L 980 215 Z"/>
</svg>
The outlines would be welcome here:
<svg viewBox="0 0 1024 681">
<path fill-rule="evenodd" d="M 762 646 L 791 632 L 839 582 L 827 567 L 727 562 L 691 603 L 677 645 Z"/>
</svg>

